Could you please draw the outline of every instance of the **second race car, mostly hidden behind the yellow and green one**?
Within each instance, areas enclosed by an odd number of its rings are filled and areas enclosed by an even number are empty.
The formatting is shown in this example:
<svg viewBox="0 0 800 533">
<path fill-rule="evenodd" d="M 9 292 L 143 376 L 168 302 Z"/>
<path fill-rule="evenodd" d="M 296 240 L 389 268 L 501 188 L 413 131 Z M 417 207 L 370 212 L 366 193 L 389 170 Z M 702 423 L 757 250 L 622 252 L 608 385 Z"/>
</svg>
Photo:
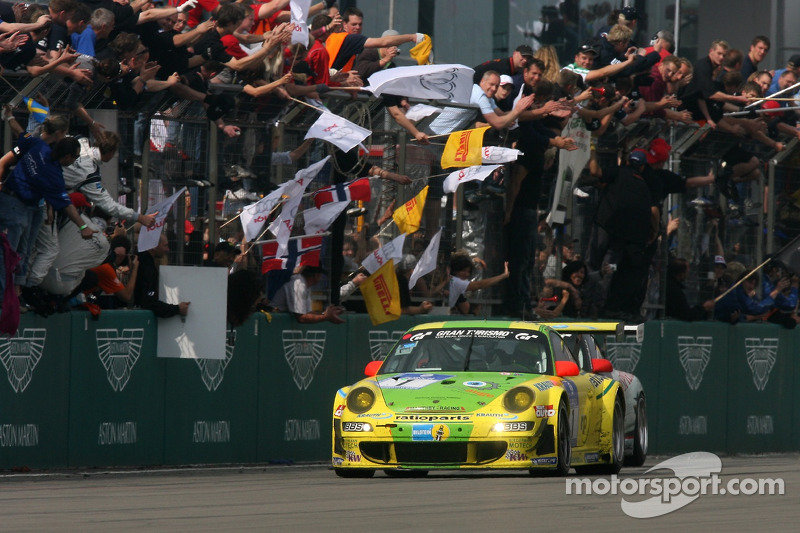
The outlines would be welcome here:
<svg viewBox="0 0 800 533">
<path fill-rule="evenodd" d="M 639 378 L 617 370 L 597 344 L 595 335 L 624 335 L 632 329 L 638 342 L 642 341 L 643 325 L 623 326 L 616 322 L 547 323 L 558 331 L 583 372 L 602 374 L 619 382 L 625 395 L 625 464 L 642 466 L 647 458 L 647 398 Z"/>
</svg>

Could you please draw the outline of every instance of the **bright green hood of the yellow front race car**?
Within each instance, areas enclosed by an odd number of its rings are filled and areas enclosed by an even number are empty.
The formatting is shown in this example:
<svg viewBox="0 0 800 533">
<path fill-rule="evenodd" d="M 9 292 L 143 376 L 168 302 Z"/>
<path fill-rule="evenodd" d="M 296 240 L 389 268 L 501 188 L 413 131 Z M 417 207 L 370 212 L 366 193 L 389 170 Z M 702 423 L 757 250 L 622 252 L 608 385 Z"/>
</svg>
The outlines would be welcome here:
<svg viewBox="0 0 800 533">
<path fill-rule="evenodd" d="M 397 413 L 469 413 L 532 379 L 548 378 L 511 372 L 444 371 L 376 376 L 386 406 Z"/>
</svg>

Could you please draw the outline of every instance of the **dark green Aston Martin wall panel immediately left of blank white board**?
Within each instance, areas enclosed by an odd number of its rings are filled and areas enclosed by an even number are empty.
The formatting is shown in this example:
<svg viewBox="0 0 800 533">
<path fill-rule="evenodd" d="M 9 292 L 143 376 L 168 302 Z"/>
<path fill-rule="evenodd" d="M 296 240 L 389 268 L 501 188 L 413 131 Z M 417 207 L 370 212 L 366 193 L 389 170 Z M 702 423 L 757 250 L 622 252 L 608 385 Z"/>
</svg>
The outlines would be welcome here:
<svg viewBox="0 0 800 533">
<path fill-rule="evenodd" d="M 164 359 L 156 358 L 155 317 L 68 316 L 69 466 L 163 464 Z"/>
</svg>

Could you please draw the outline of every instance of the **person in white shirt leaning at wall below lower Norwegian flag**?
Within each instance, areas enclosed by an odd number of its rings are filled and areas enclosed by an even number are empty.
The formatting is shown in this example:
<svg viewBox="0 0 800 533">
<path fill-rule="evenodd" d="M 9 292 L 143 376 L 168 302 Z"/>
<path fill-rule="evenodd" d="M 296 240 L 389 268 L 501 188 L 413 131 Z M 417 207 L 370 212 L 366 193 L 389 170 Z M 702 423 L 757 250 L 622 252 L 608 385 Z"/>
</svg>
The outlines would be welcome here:
<svg viewBox="0 0 800 533">
<path fill-rule="evenodd" d="M 322 313 L 311 310 L 311 287 L 317 285 L 325 273 L 325 269 L 319 266 L 303 266 L 299 274 L 292 275 L 278 289 L 270 305 L 277 312 L 291 313 L 301 324 L 344 324 L 344 320 L 339 317 L 344 312 L 343 307 L 329 305 Z"/>
</svg>

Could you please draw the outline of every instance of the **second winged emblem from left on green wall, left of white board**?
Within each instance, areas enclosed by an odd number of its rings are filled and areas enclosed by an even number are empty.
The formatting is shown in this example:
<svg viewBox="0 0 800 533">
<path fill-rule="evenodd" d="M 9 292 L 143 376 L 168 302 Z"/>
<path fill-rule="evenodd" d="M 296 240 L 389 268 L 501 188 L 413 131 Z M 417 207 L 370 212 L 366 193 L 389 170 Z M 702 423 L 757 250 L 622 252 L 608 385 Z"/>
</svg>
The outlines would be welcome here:
<svg viewBox="0 0 800 533">
<path fill-rule="evenodd" d="M 144 328 L 98 329 L 95 332 L 97 355 L 106 369 L 106 377 L 115 392 L 121 392 L 131 378 L 131 372 L 139 360 L 144 341 Z"/>
</svg>

